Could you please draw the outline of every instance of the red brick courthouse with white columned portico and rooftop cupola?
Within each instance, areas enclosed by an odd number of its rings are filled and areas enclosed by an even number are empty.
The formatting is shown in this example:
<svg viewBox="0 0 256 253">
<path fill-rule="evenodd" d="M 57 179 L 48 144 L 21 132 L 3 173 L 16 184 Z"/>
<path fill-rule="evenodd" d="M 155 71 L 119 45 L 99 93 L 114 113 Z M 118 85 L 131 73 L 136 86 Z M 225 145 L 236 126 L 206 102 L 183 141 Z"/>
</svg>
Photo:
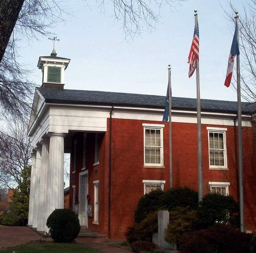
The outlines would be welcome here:
<svg viewBox="0 0 256 253">
<path fill-rule="evenodd" d="M 43 83 L 35 90 L 29 128 L 35 148 L 29 225 L 45 231 L 47 215 L 63 208 L 65 152 L 71 153 L 69 207 L 81 225 L 124 237 L 139 198 L 169 188 L 165 96 L 64 89 L 68 63 L 55 52 L 38 62 Z M 238 200 L 237 103 L 201 103 L 204 194 L 216 191 Z M 245 229 L 255 231 L 254 116 L 253 104 L 242 103 Z M 172 143 L 174 187 L 197 189 L 195 99 L 173 97 Z"/>
</svg>

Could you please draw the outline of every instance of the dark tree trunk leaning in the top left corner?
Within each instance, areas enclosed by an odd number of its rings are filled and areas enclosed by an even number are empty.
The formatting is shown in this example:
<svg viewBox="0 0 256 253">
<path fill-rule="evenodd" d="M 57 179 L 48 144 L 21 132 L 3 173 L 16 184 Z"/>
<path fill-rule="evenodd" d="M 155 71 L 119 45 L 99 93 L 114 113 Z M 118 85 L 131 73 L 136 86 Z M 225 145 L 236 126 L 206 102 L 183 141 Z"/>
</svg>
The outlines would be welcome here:
<svg viewBox="0 0 256 253">
<path fill-rule="evenodd" d="M 0 62 L 24 0 L 0 0 Z"/>
</svg>

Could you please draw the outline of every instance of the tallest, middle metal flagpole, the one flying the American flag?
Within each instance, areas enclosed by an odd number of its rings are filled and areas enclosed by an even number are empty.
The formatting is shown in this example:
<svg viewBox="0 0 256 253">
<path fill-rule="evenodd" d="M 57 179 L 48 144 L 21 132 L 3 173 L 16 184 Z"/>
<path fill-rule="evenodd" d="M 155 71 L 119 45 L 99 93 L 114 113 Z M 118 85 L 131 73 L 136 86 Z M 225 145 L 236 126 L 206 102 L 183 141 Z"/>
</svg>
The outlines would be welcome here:
<svg viewBox="0 0 256 253">
<path fill-rule="evenodd" d="M 194 10 L 195 24 L 197 20 L 197 10 Z M 198 199 L 203 197 L 203 172 L 202 172 L 202 127 L 201 127 L 201 101 L 199 83 L 199 59 L 196 59 L 196 116 L 197 116 L 197 162 L 198 162 Z"/>
</svg>

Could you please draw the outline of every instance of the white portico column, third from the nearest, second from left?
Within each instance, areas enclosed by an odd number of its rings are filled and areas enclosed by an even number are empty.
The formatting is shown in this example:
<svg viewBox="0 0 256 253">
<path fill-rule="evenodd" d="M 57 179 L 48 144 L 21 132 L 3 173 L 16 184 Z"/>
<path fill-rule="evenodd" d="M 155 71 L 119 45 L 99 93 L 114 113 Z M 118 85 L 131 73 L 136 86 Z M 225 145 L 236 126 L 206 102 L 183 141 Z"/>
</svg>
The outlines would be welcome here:
<svg viewBox="0 0 256 253">
<path fill-rule="evenodd" d="M 35 148 L 36 150 L 36 159 L 35 159 L 35 185 L 34 185 L 34 194 L 33 194 L 33 228 L 37 228 L 38 221 L 38 197 L 39 197 L 39 185 L 40 185 L 40 166 L 41 166 L 41 147 Z"/>
</svg>

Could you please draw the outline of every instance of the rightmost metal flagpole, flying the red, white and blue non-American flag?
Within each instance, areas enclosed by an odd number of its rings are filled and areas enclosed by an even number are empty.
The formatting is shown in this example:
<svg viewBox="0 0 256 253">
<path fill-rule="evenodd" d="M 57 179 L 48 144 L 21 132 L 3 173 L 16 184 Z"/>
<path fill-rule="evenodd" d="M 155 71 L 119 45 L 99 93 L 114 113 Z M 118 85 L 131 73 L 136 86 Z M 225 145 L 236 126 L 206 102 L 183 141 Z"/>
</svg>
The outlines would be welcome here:
<svg viewBox="0 0 256 253">
<path fill-rule="evenodd" d="M 237 29 L 237 43 L 238 40 L 238 11 L 235 11 L 236 29 Z M 237 122 L 238 122 L 238 166 L 239 166 L 239 202 L 240 202 L 240 229 L 241 232 L 245 230 L 244 221 L 244 194 L 243 194 L 243 167 L 242 167 L 242 117 L 241 117 L 241 87 L 240 87 L 240 55 L 237 55 Z"/>
</svg>

